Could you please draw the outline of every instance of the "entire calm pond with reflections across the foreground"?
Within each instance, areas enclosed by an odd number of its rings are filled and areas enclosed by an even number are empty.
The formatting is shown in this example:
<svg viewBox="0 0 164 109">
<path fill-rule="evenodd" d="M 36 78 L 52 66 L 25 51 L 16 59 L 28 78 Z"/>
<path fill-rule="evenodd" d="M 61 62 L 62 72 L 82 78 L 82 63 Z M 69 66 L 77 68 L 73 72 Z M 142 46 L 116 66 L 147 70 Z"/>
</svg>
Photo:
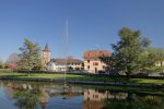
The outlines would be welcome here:
<svg viewBox="0 0 164 109">
<path fill-rule="evenodd" d="M 0 109 L 164 109 L 164 89 L 0 81 Z"/>
</svg>

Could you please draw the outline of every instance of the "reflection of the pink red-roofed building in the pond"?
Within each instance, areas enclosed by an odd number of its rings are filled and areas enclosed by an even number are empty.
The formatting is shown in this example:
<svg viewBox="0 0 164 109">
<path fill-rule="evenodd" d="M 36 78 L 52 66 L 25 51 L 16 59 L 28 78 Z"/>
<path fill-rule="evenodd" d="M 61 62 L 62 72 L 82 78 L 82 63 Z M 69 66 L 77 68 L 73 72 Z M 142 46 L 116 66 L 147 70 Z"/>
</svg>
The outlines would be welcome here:
<svg viewBox="0 0 164 109">
<path fill-rule="evenodd" d="M 108 90 L 98 92 L 95 89 L 84 90 L 83 109 L 102 109 L 105 100 L 126 100 L 127 93 L 109 93 Z"/>
</svg>

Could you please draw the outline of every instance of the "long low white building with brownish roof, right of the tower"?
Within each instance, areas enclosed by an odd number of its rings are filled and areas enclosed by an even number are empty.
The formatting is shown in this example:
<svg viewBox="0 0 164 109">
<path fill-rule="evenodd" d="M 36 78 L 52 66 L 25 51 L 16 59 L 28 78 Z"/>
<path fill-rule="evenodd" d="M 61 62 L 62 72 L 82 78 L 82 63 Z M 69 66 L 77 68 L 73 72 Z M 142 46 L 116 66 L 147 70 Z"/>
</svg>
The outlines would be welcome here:
<svg viewBox="0 0 164 109">
<path fill-rule="evenodd" d="M 55 72 L 62 72 L 66 70 L 83 70 L 83 61 L 78 59 L 51 59 L 47 63 L 47 70 Z"/>
</svg>

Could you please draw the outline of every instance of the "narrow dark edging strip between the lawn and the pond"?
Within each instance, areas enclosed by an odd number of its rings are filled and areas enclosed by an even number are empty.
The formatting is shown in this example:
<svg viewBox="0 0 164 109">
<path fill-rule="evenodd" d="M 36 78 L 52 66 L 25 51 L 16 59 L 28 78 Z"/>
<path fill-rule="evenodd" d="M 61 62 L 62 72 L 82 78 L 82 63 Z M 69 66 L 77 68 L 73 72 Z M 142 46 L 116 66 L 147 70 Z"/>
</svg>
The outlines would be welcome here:
<svg viewBox="0 0 164 109">
<path fill-rule="evenodd" d="M 36 78 L 36 77 L 0 77 L 0 80 L 13 80 L 13 81 L 34 81 L 34 82 L 55 82 L 55 83 L 67 83 L 67 84 L 86 84 L 86 85 L 109 85 L 109 86 L 128 86 L 128 87 L 153 87 L 164 88 L 164 84 L 156 83 L 126 83 L 126 82 L 103 82 L 103 81 L 86 81 L 86 80 L 61 80 L 61 78 Z"/>
</svg>

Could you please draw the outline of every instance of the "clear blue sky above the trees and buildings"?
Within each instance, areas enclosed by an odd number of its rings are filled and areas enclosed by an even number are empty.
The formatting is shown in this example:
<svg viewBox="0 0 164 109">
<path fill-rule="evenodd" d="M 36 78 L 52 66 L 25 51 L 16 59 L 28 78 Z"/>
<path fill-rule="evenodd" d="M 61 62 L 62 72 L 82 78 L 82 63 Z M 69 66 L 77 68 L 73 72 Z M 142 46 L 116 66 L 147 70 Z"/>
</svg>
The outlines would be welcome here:
<svg viewBox="0 0 164 109">
<path fill-rule="evenodd" d="M 52 58 L 82 59 L 86 50 L 108 50 L 122 27 L 140 31 L 164 47 L 164 0 L 0 0 L 0 58 L 17 52 L 24 38 Z M 66 45 L 66 21 L 69 43 Z"/>
</svg>

